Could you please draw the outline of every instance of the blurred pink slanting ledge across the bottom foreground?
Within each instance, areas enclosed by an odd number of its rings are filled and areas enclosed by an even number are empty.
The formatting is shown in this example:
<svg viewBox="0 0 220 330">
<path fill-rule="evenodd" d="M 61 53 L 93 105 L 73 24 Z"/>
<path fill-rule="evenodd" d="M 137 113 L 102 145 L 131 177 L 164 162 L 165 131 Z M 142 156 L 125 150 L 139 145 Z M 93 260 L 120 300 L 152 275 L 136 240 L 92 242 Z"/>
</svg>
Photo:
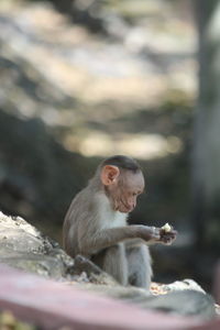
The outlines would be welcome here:
<svg viewBox="0 0 220 330">
<path fill-rule="evenodd" d="M 6 265 L 0 265 L 0 309 L 46 330 L 220 329 L 220 321 L 219 328 L 202 328 L 195 318 L 144 310 Z"/>
</svg>

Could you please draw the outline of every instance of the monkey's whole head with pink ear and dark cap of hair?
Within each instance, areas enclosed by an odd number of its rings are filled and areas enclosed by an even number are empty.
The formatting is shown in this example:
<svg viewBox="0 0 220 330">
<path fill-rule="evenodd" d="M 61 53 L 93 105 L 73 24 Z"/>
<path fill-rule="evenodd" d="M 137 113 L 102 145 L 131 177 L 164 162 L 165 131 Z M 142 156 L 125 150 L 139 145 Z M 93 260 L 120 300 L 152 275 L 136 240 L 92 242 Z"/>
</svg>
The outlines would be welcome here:
<svg viewBox="0 0 220 330">
<path fill-rule="evenodd" d="M 136 198 L 144 190 L 144 176 L 134 160 L 121 155 L 106 160 L 100 179 L 113 210 L 129 213 L 135 208 Z"/>
</svg>

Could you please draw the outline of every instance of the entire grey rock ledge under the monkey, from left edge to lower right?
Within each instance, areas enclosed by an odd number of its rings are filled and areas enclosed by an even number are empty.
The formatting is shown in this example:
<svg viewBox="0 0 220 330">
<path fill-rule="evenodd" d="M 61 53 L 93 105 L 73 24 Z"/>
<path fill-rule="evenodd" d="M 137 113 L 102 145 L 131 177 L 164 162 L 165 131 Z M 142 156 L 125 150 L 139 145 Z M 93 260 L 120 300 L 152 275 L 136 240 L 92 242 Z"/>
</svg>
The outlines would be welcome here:
<svg viewBox="0 0 220 330">
<path fill-rule="evenodd" d="M 162 285 L 165 295 L 123 287 L 84 256 L 75 260 L 59 245 L 20 217 L 0 212 L 0 263 L 65 282 L 99 295 L 178 315 L 209 319 L 216 315 L 213 299 L 191 279 Z"/>
</svg>

